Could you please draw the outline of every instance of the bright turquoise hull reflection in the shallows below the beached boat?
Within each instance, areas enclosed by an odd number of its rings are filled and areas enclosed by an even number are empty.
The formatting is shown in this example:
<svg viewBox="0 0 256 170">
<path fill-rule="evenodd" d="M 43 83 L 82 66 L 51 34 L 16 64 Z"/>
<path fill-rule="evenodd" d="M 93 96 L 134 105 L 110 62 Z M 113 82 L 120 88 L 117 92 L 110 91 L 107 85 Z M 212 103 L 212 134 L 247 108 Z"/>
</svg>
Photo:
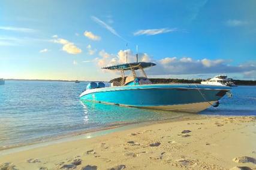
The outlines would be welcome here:
<svg viewBox="0 0 256 170">
<path fill-rule="evenodd" d="M 81 103 L 83 104 L 84 110 L 84 123 L 95 122 L 100 123 L 101 126 L 126 125 L 130 123 L 148 122 L 150 120 L 168 120 L 198 116 L 185 112 L 119 107 L 112 104 L 96 103 L 94 101 L 82 101 Z"/>
</svg>

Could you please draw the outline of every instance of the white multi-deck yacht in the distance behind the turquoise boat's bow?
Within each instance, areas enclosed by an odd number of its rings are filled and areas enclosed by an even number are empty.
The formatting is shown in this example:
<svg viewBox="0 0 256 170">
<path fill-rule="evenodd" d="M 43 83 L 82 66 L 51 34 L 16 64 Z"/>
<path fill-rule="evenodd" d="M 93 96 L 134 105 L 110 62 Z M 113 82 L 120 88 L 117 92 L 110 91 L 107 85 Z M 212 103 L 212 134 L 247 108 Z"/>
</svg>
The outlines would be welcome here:
<svg viewBox="0 0 256 170">
<path fill-rule="evenodd" d="M 221 85 L 221 86 L 236 86 L 233 82 L 233 79 L 228 79 L 227 75 L 218 75 L 212 79 L 207 79 L 202 81 L 203 85 Z"/>
</svg>

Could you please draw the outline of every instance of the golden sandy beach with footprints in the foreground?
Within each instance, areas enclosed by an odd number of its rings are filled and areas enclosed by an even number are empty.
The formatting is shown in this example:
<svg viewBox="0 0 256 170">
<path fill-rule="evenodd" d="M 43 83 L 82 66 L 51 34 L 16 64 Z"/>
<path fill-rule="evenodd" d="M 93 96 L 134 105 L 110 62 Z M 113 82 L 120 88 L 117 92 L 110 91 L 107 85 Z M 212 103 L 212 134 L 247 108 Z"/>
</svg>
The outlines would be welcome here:
<svg viewBox="0 0 256 170">
<path fill-rule="evenodd" d="M 0 169 L 256 169 L 256 118 L 157 123 L 0 157 Z"/>
</svg>

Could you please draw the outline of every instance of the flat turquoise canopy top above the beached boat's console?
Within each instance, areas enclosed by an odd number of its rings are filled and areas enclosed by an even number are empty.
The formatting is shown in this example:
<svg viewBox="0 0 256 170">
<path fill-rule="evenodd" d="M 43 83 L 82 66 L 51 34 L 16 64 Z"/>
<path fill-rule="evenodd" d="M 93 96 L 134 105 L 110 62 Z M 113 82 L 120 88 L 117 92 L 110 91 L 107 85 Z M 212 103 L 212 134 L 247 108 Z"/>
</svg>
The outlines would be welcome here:
<svg viewBox="0 0 256 170">
<path fill-rule="evenodd" d="M 138 63 L 125 63 L 125 64 L 119 64 L 116 66 L 109 66 L 109 67 L 103 67 L 101 69 L 109 69 L 109 70 L 130 70 L 131 68 L 134 70 L 138 70 L 141 67 L 147 68 L 155 66 L 155 63 L 147 63 L 147 62 L 138 62 Z"/>
</svg>

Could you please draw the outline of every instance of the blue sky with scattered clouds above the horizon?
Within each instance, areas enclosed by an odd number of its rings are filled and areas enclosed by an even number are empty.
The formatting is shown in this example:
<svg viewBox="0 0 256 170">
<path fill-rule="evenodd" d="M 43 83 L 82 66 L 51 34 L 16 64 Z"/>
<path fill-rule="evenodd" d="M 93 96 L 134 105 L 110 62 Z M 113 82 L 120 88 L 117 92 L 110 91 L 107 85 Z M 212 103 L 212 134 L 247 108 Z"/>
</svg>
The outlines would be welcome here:
<svg viewBox="0 0 256 170">
<path fill-rule="evenodd" d="M 155 78 L 256 78 L 256 1 L 0 1 L 0 78 L 104 80 L 153 61 Z M 126 45 L 128 44 L 128 47 Z"/>
</svg>

